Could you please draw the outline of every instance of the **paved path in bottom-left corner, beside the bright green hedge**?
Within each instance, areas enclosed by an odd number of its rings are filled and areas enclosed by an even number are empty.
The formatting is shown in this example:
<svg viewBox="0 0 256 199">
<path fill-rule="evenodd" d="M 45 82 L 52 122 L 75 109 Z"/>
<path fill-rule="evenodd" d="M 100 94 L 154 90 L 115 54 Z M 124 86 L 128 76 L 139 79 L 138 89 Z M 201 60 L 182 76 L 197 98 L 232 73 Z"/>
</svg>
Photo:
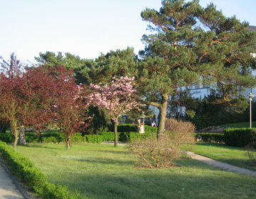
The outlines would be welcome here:
<svg viewBox="0 0 256 199">
<path fill-rule="evenodd" d="M 1 161 L 1 160 L 0 160 Z M 0 199 L 24 199 L 14 181 L 0 163 Z"/>
</svg>

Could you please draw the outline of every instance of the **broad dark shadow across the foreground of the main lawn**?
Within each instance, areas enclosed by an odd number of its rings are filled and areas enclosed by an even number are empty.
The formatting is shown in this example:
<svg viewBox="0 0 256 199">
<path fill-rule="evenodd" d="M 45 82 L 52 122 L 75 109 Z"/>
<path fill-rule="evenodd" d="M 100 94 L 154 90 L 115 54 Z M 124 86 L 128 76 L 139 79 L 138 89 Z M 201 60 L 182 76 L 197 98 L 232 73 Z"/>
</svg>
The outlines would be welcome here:
<svg viewBox="0 0 256 199">
<path fill-rule="evenodd" d="M 193 168 L 90 171 L 65 174 L 53 183 L 68 185 L 90 198 L 240 198 L 255 197 L 255 178 L 236 173 Z M 239 196 L 239 197 L 238 197 Z"/>
</svg>

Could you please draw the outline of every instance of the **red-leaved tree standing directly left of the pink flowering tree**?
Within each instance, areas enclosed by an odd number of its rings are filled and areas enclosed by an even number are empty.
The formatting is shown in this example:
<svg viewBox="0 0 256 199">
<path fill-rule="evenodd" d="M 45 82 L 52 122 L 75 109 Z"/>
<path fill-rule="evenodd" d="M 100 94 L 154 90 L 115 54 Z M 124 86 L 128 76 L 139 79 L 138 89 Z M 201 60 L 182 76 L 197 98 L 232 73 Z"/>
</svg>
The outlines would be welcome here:
<svg viewBox="0 0 256 199">
<path fill-rule="evenodd" d="M 87 117 L 90 89 L 77 85 L 73 71 L 63 66 L 55 68 L 53 84 L 52 102 L 47 111 L 51 122 L 58 127 L 66 149 L 70 149 L 71 137 L 80 130 L 85 131 L 92 120 Z"/>
</svg>

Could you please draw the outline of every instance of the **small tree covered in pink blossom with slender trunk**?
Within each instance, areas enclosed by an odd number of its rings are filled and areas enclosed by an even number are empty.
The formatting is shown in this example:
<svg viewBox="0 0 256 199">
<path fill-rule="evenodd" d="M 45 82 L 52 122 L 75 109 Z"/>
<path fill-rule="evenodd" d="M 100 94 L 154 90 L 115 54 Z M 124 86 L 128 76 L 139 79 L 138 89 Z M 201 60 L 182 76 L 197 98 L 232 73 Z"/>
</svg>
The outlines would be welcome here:
<svg viewBox="0 0 256 199">
<path fill-rule="evenodd" d="M 90 84 L 96 90 L 90 95 L 92 104 L 100 108 L 107 109 L 110 117 L 114 120 L 114 146 L 117 147 L 117 124 L 122 114 L 129 112 L 131 109 L 139 109 L 140 104 L 137 102 L 138 91 L 134 77 L 113 77 L 111 85 L 102 86 Z"/>
</svg>

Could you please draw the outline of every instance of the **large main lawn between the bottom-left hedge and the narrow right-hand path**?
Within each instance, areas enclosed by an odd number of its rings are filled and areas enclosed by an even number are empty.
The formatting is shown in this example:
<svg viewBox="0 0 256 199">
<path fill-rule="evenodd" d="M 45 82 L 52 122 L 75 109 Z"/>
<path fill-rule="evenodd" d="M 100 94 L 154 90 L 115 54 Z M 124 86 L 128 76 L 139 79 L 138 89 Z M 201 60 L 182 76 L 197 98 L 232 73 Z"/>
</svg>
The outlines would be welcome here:
<svg viewBox="0 0 256 199">
<path fill-rule="evenodd" d="M 17 151 L 33 161 L 50 183 L 68 185 L 87 198 L 256 198 L 256 178 L 224 171 L 191 158 L 176 167 L 134 167 L 123 146 L 27 144 Z"/>
</svg>

